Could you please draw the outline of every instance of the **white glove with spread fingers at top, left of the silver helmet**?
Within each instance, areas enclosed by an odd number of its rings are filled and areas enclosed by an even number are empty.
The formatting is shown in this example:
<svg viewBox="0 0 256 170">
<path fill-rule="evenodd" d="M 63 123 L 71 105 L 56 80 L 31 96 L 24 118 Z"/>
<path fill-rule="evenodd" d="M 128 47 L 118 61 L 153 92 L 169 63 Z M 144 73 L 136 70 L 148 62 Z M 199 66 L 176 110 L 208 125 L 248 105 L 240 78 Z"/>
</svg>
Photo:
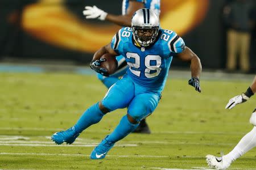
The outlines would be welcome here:
<svg viewBox="0 0 256 170">
<path fill-rule="evenodd" d="M 93 19 L 98 18 L 100 20 L 105 20 L 106 16 L 108 15 L 107 12 L 102 11 L 101 9 L 97 8 L 97 6 L 85 6 L 85 10 L 82 11 L 86 19 Z"/>
</svg>

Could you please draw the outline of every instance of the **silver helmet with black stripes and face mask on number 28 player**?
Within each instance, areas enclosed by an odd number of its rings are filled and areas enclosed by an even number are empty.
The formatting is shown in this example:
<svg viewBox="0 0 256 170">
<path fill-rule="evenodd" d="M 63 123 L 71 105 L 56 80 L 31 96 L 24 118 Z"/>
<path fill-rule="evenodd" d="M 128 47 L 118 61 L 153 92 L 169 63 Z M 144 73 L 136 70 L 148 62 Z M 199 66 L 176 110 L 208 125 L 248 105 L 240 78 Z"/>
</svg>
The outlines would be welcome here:
<svg viewBox="0 0 256 170">
<path fill-rule="evenodd" d="M 153 10 L 142 8 L 131 18 L 133 38 L 139 45 L 145 47 L 156 40 L 159 31 L 159 18 Z"/>
</svg>

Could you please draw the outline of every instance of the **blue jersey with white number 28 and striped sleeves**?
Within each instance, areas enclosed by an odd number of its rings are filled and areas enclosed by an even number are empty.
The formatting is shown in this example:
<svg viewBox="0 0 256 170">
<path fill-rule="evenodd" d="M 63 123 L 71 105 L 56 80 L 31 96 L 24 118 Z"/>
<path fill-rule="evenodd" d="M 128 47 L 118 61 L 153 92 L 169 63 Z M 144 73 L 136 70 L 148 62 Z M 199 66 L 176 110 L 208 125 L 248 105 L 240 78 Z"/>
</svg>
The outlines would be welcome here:
<svg viewBox="0 0 256 170">
<path fill-rule="evenodd" d="M 168 76 L 172 56 L 185 49 L 183 39 L 174 31 L 159 29 L 155 42 L 146 48 L 134 44 L 130 27 L 121 28 L 113 37 L 112 49 L 125 57 L 127 74 L 143 87 L 162 91 Z"/>
</svg>

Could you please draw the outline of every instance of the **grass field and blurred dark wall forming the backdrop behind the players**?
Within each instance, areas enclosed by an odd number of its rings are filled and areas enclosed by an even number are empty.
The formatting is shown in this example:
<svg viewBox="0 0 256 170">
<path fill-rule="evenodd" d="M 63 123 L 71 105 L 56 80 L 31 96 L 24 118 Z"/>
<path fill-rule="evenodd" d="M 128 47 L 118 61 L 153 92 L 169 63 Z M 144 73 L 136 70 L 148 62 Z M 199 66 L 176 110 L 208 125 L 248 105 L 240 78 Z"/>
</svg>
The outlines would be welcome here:
<svg viewBox="0 0 256 170">
<path fill-rule="evenodd" d="M 225 109 L 255 74 L 222 71 L 224 3 L 162 0 L 162 27 L 179 33 L 201 58 L 202 92 L 188 85 L 188 65 L 173 59 L 159 106 L 147 118 L 152 134 L 132 133 L 104 160 L 93 161 L 90 152 L 126 109 L 107 114 L 72 145 L 57 146 L 51 135 L 72 126 L 106 93 L 88 62 L 119 27 L 85 20 L 84 6 L 121 14 L 121 0 L 0 0 L 0 169 L 208 169 L 205 155 L 227 154 L 251 130 L 256 103 L 254 95 L 245 104 Z M 254 170 L 255 155 L 254 148 L 230 169 Z"/>
</svg>

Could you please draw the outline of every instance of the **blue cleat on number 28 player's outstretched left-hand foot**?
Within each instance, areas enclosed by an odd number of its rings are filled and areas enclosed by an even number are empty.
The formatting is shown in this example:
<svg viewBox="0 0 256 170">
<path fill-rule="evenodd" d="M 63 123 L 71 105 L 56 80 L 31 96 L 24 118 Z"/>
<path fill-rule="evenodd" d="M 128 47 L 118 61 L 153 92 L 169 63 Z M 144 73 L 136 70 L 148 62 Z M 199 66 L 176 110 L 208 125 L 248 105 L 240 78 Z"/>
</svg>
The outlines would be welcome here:
<svg viewBox="0 0 256 170">
<path fill-rule="evenodd" d="M 79 133 L 76 133 L 75 126 L 69 128 L 65 131 L 59 131 L 52 135 L 52 141 L 54 141 L 57 145 L 60 145 L 63 142 L 67 144 L 73 143 L 76 138 L 79 136 Z"/>
</svg>

